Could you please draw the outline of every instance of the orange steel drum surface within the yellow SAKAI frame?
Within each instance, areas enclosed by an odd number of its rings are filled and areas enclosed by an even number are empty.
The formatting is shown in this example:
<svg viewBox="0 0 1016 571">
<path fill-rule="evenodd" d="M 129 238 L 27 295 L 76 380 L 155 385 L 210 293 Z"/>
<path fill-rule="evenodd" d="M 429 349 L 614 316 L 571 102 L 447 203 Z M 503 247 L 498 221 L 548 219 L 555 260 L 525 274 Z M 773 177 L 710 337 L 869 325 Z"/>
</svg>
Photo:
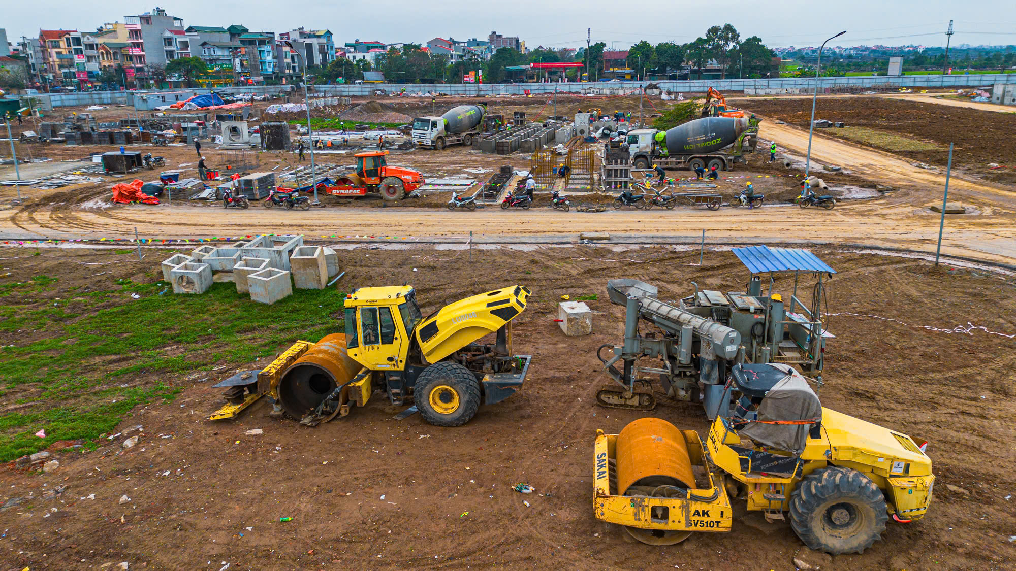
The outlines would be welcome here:
<svg viewBox="0 0 1016 571">
<path fill-rule="evenodd" d="M 664 420 L 645 418 L 629 423 L 618 435 L 615 458 L 621 495 L 649 495 L 639 487 L 695 488 L 685 437 Z"/>
</svg>

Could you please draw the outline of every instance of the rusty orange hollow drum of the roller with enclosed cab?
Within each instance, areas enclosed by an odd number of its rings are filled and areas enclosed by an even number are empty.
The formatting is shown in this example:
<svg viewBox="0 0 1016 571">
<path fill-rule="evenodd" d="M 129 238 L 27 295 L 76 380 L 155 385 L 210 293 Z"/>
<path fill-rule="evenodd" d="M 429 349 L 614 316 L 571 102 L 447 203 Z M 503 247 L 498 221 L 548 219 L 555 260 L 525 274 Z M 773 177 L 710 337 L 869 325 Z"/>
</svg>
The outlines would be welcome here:
<svg viewBox="0 0 1016 571">
<path fill-rule="evenodd" d="M 282 373 L 278 383 L 279 404 L 285 414 L 299 421 L 361 368 L 345 353 L 345 333 L 327 335 Z"/>
</svg>

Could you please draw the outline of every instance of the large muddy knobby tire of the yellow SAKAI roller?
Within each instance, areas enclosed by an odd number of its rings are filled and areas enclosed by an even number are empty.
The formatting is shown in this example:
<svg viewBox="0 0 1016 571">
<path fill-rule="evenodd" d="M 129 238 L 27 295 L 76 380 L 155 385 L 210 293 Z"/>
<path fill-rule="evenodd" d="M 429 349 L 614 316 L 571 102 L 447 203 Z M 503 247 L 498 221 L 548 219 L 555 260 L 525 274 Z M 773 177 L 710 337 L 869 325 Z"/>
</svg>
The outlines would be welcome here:
<svg viewBox="0 0 1016 571">
<path fill-rule="evenodd" d="M 855 469 L 817 469 L 790 494 L 790 526 L 816 551 L 861 554 L 881 538 L 888 519 L 882 491 Z"/>
</svg>

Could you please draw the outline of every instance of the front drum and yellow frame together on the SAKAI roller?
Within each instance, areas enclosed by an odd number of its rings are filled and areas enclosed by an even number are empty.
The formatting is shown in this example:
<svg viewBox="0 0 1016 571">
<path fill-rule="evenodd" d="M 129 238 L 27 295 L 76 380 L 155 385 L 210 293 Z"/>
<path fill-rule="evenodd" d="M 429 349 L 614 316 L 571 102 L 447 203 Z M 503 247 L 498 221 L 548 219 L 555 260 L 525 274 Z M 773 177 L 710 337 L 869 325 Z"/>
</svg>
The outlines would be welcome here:
<svg viewBox="0 0 1016 571">
<path fill-rule="evenodd" d="M 702 450 L 698 433 L 659 419 L 639 419 L 620 435 L 597 430 L 596 519 L 622 525 L 650 545 L 677 544 L 692 531 L 729 531 L 723 477 L 709 469 Z"/>
</svg>

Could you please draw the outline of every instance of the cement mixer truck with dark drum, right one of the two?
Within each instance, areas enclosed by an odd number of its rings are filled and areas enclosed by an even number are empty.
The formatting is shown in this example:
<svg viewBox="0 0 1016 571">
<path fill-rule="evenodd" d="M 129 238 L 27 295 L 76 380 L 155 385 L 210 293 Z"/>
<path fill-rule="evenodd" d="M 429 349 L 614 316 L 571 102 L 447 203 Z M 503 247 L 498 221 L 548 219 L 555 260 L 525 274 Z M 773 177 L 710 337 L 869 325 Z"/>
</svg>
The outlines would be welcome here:
<svg viewBox="0 0 1016 571">
<path fill-rule="evenodd" d="M 636 129 L 628 132 L 632 167 L 664 169 L 698 167 L 729 171 L 744 162 L 745 152 L 758 144 L 759 119 L 747 117 L 703 117 L 668 131 Z"/>
</svg>

